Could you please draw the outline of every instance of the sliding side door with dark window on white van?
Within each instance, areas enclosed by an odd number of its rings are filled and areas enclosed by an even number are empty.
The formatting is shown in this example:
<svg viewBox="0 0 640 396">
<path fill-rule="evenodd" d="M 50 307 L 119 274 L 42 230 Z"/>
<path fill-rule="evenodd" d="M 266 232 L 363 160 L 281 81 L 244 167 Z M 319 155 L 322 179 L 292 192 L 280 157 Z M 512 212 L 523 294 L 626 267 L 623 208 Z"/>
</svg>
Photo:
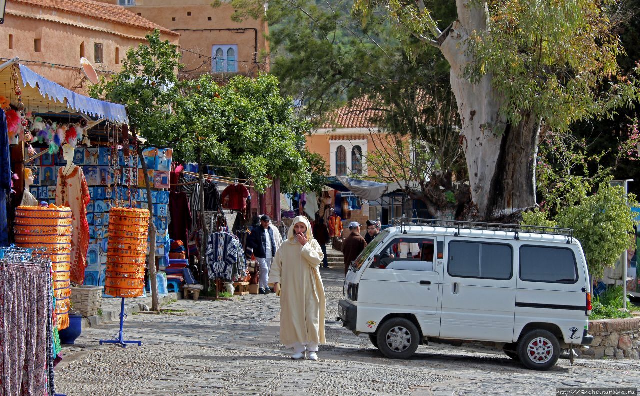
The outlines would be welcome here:
<svg viewBox="0 0 640 396">
<path fill-rule="evenodd" d="M 511 341 L 515 241 L 448 237 L 440 337 Z"/>
</svg>

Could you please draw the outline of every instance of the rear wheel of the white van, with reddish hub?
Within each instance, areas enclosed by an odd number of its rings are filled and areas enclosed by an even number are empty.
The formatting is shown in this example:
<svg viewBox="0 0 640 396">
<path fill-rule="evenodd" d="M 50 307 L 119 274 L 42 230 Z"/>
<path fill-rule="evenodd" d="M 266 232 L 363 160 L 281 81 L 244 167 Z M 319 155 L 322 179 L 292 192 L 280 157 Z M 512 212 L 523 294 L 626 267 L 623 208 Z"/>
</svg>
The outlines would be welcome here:
<svg viewBox="0 0 640 396">
<path fill-rule="evenodd" d="M 520 362 L 529 369 L 548 370 L 560 357 L 560 343 L 548 330 L 531 330 L 518 342 Z"/>
</svg>

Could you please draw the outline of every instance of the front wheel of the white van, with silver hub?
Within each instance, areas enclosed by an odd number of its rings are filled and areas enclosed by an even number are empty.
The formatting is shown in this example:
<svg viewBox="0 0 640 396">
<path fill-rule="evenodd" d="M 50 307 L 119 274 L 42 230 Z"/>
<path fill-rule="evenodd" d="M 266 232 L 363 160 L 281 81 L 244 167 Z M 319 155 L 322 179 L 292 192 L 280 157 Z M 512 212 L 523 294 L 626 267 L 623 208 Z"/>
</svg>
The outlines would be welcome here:
<svg viewBox="0 0 640 396">
<path fill-rule="evenodd" d="M 392 359 L 406 359 L 420 344 L 417 326 L 406 317 L 392 317 L 378 328 L 378 348 Z"/>
</svg>

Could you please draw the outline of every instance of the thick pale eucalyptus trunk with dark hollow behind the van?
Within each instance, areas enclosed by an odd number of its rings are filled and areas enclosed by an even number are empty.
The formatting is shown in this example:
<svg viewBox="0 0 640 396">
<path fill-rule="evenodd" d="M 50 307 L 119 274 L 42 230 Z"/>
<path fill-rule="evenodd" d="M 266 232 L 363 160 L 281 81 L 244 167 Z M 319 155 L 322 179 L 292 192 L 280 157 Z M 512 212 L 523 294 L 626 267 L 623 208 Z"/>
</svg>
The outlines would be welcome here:
<svg viewBox="0 0 640 396">
<path fill-rule="evenodd" d="M 536 204 L 535 164 L 541 119 L 525 114 L 508 125 L 500 108 L 504 98 L 492 86 L 493 76 L 473 82 L 465 69 L 474 62 L 465 41 L 473 31 L 488 29 L 486 4 L 458 0 L 458 20 L 442 42 L 451 65 L 451 88 L 462 123 L 461 144 L 467 156 L 471 194 L 481 218 L 504 217 Z M 472 3 L 472 4 L 471 4 Z"/>
</svg>

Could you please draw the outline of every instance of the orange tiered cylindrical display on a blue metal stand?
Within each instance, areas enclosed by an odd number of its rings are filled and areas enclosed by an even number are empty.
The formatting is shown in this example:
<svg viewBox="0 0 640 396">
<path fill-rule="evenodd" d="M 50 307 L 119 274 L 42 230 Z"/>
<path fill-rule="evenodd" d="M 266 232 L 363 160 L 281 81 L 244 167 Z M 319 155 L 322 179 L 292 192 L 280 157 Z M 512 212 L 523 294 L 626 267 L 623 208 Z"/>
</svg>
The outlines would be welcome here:
<svg viewBox="0 0 640 396">
<path fill-rule="evenodd" d="M 145 289 L 149 211 L 111 208 L 104 293 L 138 297 Z"/>
</svg>

